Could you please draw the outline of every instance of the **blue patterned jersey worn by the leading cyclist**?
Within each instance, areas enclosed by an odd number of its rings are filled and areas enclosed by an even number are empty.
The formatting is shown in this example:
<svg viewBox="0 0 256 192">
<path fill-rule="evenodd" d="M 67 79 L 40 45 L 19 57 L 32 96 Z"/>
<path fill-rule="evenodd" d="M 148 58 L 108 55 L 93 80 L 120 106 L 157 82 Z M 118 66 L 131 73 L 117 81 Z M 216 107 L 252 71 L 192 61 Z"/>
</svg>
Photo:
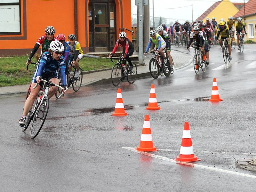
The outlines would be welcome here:
<svg viewBox="0 0 256 192">
<path fill-rule="evenodd" d="M 54 60 L 51 53 L 48 51 L 44 52 L 38 65 L 37 76 L 57 76 L 59 71 L 62 84 L 66 86 L 66 64 L 64 57 L 61 55 L 59 60 Z"/>
</svg>

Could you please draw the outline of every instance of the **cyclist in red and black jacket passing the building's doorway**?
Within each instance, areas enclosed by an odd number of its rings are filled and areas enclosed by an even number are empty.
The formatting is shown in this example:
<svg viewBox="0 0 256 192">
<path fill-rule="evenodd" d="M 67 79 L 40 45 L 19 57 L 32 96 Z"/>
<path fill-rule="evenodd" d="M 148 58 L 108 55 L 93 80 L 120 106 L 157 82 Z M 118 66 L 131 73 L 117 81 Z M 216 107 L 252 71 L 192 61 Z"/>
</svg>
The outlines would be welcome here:
<svg viewBox="0 0 256 192">
<path fill-rule="evenodd" d="M 115 54 L 118 45 L 120 45 L 123 48 L 123 52 L 122 52 L 123 57 L 122 58 L 126 59 L 129 62 L 129 64 L 130 64 L 129 71 L 132 71 L 133 65 L 132 65 L 132 61 L 129 58 L 129 56 L 131 56 L 132 53 L 134 52 L 134 46 L 133 46 L 132 42 L 128 39 L 128 37 L 126 37 L 125 32 L 119 33 L 119 38 L 117 39 L 116 45 L 115 45 L 112 53 L 110 53 L 109 58 L 111 58 L 112 55 Z"/>
</svg>

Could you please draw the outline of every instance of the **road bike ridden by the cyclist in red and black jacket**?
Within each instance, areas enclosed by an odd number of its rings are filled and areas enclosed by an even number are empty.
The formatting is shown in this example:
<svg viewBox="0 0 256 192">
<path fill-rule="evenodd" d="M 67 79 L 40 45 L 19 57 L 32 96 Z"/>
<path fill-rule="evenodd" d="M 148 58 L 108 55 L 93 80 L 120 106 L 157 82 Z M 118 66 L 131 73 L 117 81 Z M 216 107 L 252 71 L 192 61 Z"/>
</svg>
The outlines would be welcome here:
<svg viewBox="0 0 256 192">
<path fill-rule="evenodd" d="M 129 84 L 133 84 L 137 77 L 137 66 L 136 63 L 132 61 L 132 70 L 129 70 L 130 64 L 126 59 L 122 58 L 122 55 L 112 55 L 110 60 L 113 62 L 112 57 L 117 57 L 118 60 L 113 66 L 111 71 L 111 81 L 114 86 L 118 86 L 120 82 L 127 78 Z"/>
</svg>

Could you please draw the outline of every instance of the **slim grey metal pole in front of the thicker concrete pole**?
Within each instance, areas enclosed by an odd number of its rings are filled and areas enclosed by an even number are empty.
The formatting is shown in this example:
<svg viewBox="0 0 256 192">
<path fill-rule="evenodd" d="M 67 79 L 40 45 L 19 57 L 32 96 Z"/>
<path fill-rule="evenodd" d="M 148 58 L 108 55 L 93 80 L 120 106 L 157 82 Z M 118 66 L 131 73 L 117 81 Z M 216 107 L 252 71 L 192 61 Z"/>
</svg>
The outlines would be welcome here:
<svg viewBox="0 0 256 192">
<path fill-rule="evenodd" d="M 143 63 L 143 0 L 139 1 L 139 62 Z"/>
</svg>

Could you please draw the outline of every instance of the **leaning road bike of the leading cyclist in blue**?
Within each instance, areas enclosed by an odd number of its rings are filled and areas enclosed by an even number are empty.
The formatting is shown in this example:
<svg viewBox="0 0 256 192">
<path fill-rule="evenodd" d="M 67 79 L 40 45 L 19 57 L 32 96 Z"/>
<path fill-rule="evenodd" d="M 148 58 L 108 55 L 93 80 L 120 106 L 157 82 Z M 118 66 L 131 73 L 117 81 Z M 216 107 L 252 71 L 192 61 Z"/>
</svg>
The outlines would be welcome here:
<svg viewBox="0 0 256 192">
<path fill-rule="evenodd" d="M 54 84 L 51 81 L 46 81 L 44 79 L 41 79 L 42 82 L 44 82 L 44 85 L 41 87 L 41 90 L 38 93 L 38 96 L 36 100 L 34 101 L 34 104 L 32 108 L 29 110 L 27 118 L 25 120 L 25 126 L 22 127 L 22 131 L 25 132 L 29 126 L 30 126 L 30 138 L 34 139 L 42 129 L 44 125 L 44 121 L 46 119 L 49 106 L 50 106 L 50 101 L 48 98 L 48 92 L 50 89 L 50 86 L 56 86 L 60 89 L 62 87 L 60 85 Z M 38 86 L 38 83 L 36 83 L 35 89 Z M 45 89 L 43 89 L 45 87 Z"/>
</svg>

